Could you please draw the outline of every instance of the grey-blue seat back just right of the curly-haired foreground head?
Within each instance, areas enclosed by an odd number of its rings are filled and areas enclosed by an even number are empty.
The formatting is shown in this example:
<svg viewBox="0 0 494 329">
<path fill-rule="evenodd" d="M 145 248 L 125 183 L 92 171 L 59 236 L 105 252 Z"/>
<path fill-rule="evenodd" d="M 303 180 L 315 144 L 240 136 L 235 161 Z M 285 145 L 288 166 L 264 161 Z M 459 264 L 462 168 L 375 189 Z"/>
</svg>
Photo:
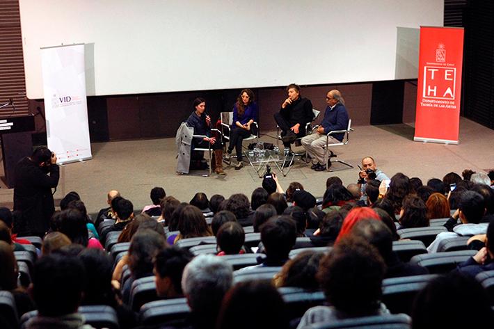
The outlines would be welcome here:
<svg viewBox="0 0 494 329">
<path fill-rule="evenodd" d="M 406 313 L 410 315 L 415 295 L 437 276 L 436 274 L 424 274 L 384 279 L 383 298 L 381 301 L 391 313 Z"/>
</svg>

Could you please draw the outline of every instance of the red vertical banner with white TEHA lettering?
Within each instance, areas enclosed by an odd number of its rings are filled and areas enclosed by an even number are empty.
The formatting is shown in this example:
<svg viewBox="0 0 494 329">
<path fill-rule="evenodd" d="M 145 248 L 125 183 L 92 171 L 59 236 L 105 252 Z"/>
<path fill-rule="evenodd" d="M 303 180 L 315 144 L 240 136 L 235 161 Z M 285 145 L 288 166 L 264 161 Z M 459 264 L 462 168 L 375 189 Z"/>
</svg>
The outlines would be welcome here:
<svg viewBox="0 0 494 329">
<path fill-rule="evenodd" d="M 463 29 L 420 27 L 413 141 L 458 144 Z"/>
</svg>

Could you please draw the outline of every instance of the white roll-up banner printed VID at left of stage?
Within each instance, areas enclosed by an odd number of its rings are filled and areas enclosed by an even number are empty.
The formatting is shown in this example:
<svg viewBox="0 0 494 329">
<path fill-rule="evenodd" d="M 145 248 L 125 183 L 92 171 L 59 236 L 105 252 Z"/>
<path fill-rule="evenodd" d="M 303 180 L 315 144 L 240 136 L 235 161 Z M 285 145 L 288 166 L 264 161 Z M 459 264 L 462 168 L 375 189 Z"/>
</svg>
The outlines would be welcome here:
<svg viewBox="0 0 494 329">
<path fill-rule="evenodd" d="M 84 45 L 41 48 L 48 148 L 58 163 L 91 159 Z"/>
</svg>

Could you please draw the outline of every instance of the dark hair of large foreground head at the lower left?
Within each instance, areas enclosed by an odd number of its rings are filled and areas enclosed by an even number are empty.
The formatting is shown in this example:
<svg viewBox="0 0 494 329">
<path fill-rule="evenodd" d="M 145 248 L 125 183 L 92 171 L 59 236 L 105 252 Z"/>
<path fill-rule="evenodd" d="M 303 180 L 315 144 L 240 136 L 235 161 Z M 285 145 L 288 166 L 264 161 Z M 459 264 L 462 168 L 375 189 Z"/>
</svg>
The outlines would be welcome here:
<svg viewBox="0 0 494 329">
<path fill-rule="evenodd" d="M 77 312 L 86 285 L 86 270 L 81 260 L 50 254 L 38 259 L 34 273 L 33 299 L 40 316 Z"/>
</svg>

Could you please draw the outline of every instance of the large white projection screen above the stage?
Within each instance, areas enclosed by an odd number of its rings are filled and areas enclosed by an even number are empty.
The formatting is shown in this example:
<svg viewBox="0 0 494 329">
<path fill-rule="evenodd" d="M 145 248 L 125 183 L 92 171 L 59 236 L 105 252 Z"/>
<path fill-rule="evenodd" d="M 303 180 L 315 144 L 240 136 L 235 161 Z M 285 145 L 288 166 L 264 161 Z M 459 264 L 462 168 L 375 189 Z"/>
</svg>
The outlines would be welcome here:
<svg viewBox="0 0 494 329">
<path fill-rule="evenodd" d="M 72 43 L 86 44 L 88 96 L 415 79 L 395 72 L 397 31 L 443 26 L 444 11 L 443 0 L 19 5 L 30 99 L 43 97 L 40 48 Z"/>
</svg>

